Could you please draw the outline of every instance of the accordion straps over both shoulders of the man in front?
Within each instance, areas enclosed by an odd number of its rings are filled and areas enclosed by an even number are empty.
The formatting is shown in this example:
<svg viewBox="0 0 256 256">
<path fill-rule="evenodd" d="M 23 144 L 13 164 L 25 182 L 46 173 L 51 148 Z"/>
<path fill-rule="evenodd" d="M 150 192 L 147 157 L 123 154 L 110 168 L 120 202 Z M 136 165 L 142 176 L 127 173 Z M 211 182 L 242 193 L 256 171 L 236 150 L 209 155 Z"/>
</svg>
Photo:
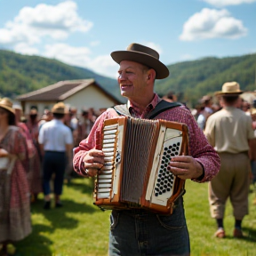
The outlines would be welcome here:
<svg viewBox="0 0 256 256">
<path fill-rule="evenodd" d="M 179 102 L 167 102 L 165 100 L 161 100 L 156 105 L 156 108 L 154 108 L 152 111 L 150 111 L 148 113 L 148 115 L 145 116 L 145 118 L 153 119 L 158 114 L 164 112 L 167 109 L 180 107 L 180 106 L 182 106 L 182 104 L 179 103 Z M 119 116 L 130 116 L 130 117 L 132 117 L 131 113 L 129 112 L 129 109 L 127 108 L 127 104 L 117 105 L 113 108 L 116 110 L 116 113 Z"/>
</svg>

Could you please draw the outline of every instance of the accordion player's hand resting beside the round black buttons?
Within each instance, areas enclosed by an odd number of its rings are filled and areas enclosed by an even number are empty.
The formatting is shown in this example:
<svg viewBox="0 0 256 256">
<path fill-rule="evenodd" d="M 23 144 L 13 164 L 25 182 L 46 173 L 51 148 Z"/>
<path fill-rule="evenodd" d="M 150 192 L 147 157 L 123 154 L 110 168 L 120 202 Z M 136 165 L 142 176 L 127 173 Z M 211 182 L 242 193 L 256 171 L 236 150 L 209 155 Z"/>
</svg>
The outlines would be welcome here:
<svg viewBox="0 0 256 256">
<path fill-rule="evenodd" d="M 197 179 L 203 173 L 203 166 L 192 156 L 173 156 L 168 170 L 180 179 Z"/>
</svg>

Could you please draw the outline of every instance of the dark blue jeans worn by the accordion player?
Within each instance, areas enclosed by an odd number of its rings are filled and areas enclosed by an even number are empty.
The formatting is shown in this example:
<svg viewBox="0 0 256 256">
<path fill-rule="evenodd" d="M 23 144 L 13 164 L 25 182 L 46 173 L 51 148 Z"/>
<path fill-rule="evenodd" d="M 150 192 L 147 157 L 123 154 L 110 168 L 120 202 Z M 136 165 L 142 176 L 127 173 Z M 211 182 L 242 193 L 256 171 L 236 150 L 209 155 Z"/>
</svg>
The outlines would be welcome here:
<svg viewBox="0 0 256 256">
<path fill-rule="evenodd" d="M 109 255 L 188 256 L 190 245 L 182 197 L 175 204 L 169 216 L 145 210 L 112 211 Z"/>
</svg>

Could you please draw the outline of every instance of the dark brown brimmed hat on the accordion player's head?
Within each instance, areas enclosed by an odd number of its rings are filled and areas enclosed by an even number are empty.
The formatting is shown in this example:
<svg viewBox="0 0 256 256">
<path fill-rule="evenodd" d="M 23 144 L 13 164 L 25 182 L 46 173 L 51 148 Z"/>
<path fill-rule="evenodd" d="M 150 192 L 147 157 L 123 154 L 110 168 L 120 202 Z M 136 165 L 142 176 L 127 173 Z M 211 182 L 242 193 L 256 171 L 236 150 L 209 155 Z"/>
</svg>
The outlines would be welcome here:
<svg viewBox="0 0 256 256">
<path fill-rule="evenodd" d="M 126 51 L 111 52 L 111 57 L 118 64 L 122 60 L 131 60 L 153 68 L 156 71 L 156 79 L 169 76 L 168 68 L 159 60 L 159 53 L 142 44 L 132 43 Z"/>
</svg>

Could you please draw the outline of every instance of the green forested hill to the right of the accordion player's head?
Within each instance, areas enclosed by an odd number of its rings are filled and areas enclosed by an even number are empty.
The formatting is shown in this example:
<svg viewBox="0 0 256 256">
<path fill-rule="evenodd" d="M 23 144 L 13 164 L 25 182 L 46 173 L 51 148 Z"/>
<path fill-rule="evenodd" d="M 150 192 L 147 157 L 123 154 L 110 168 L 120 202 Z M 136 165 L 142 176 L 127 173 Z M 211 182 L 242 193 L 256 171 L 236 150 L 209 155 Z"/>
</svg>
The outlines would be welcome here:
<svg viewBox="0 0 256 256">
<path fill-rule="evenodd" d="M 170 76 L 157 80 L 156 92 L 175 92 L 180 101 L 194 103 L 206 94 L 221 91 L 236 81 L 244 91 L 256 90 L 256 53 L 240 57 L 204 58 L 168 66 Z"/>
</svg>

